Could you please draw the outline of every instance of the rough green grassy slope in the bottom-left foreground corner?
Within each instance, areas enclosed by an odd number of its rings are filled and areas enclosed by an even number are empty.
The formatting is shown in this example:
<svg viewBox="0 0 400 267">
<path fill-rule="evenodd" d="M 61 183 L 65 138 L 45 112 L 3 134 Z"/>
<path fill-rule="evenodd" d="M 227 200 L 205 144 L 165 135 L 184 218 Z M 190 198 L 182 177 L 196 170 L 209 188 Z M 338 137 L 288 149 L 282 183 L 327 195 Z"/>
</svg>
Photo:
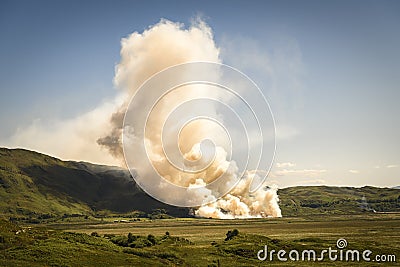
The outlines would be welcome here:
<svg viewBox="0 0 400 267">
<path fill-rule="evenodd" d="M 0 219 L 1 266 L 136 266 L 155 261 L 124 254 L 105 238 L 44 228 L 21 228 Z"/>
</svg>

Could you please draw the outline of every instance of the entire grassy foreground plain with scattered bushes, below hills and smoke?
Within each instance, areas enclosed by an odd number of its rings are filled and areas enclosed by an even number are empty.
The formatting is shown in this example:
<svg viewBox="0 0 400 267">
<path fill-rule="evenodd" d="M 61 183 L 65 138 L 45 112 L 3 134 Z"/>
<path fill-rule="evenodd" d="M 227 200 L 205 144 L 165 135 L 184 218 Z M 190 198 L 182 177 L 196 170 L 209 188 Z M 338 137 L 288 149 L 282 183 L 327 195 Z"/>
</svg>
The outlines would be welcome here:
<svg viewBox="0 0 400 267">
<path fill-rule="evenodd" d="M 319 257 L 322 249 L 336 249 L 339 238 L 347 240 L 346 249 L 371 250 L 371 259 L 377 254 L 400 255 L 399 213 L 251 220 L 77 221 L 27 227 L 3 221 L 0 265 L 293 266 L 294 262 L 280 262 L 276 255 L 272 262 L 259 261 L 257 252 L 268 245 L 269 250 L 284 249 L 287 253 L 314 249 Z M 239 234 L 225 240 L 233 229 Z M 296 262 L 300 266 L 348 264 L 331 262 L 327 256 L 324 262 Z M 352 266 L 377 264 L 351 262 Z"/>
</svg>

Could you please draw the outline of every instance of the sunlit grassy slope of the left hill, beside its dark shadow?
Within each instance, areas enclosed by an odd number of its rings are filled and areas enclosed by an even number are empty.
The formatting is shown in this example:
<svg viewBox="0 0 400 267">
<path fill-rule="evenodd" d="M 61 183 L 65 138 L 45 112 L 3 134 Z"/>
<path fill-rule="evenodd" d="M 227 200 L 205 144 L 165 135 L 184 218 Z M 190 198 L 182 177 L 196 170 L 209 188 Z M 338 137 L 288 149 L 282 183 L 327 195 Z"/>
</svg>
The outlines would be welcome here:
<svg viewBox="0 0 400 267">
<path fill-rule="evenodd" d="M 67 163 L 24 150 L 0 149 L 0 212 L 3 214 L 73 214 L 87 213 L 90 208 L 67 194 L 48 190 L 33 177 L 29 169 L 48 166 L 66 167 Z"/>
</svg>

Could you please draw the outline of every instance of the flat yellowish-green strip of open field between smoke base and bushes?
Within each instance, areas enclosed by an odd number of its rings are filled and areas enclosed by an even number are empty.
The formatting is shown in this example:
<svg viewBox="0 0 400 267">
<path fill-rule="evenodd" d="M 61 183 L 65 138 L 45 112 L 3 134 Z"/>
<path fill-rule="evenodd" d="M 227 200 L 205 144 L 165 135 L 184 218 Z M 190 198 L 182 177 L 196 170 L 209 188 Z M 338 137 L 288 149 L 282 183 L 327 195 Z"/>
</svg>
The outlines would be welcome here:
<svg viewBox="0 0 400 267">
<path fill-rule="evenodd" d="M 391 242 L 397 242 L 400 246 L 400 240 L 395 240 L 396 236 L 400 237 L 400 213 L 248 220 L 182 218 L 130 223 L 56 224 L 52 227 L 88 234 L 98 232 L 118 235 L 128 233 L 161 235 L 169 231 L 171 234 L 189 238 L 193 242 L 211 242 L 216 236 L 224 237 L 228 230 L 234 228 L 242 233 L 260 234 L 285 240 L 305 236 L 329 237 L 331 240 L 340 237 L 373 239 L 378 238 L 375 237 L 375 233 L 379 233 L 381 237 L 393 238 Z"/>
</svg>

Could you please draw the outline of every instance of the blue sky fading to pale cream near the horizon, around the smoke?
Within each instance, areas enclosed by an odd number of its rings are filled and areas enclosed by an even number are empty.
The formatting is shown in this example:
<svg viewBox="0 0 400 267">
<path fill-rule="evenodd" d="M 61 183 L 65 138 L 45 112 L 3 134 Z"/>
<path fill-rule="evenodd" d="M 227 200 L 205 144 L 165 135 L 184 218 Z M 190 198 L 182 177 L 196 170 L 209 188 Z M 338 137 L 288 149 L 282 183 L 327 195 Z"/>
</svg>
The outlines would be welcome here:
<svg viewBox="0 0 400 267">
<path fill-rule="evenodd" d="M 1 1 L 0 145 L 112 98 L 121 38 L 196 16 L 270 102 L 271 180 L 399 185 L 398 1 Z"/>
</svg>

